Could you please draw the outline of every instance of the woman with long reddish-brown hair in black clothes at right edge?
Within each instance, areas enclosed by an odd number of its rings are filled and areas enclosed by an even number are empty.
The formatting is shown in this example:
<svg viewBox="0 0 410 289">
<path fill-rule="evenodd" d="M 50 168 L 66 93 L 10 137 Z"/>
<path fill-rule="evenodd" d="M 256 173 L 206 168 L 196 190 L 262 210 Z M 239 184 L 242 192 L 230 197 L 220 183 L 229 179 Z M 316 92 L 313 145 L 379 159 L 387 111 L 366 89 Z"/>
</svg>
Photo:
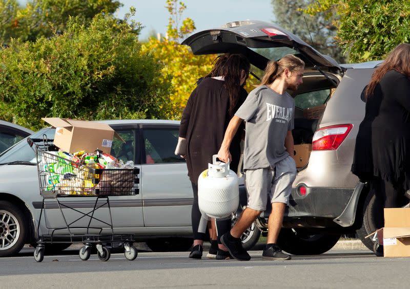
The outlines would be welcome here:
<svg viewBox="0 0 410 289">
<path fill-rule="evenodd" d="M 403 206 L 410 189 L 410 45 L 398 45 L 375 70 L 362 98 L 352 172 L 375 192 L 383 227 L 383 208 Z M 382 251 L 382 247 L 380 247 Z M 380 253 L 380 252 L 378 252 Z"/>
</svg>

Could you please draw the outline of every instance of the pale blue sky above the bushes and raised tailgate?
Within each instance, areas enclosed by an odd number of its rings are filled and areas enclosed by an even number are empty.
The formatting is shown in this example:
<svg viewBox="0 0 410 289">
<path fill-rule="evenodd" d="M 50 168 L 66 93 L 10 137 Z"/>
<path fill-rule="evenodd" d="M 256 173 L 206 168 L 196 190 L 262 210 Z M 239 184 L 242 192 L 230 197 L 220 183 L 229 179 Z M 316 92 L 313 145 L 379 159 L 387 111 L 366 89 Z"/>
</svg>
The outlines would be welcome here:
<svg viewBox="0 0 410 289">
<path fill-rule="evenodd" d="M 123 7 L 117 12 L 118 18 L 124 18 L 131 6 L 137 10 L 134 20 L 143 26 L 140 38 L 144 39 L 155 31 L 165 35 L 169 13 L 165 8 L 166 0 L 119 0 Z M 217 28 L 237 20 L 261 20 L 272 22 L 274 19 L 271 0 L 182 0 L 187 6 L 182 18 L 194 20 L 196 31 Z"/>
</svg>

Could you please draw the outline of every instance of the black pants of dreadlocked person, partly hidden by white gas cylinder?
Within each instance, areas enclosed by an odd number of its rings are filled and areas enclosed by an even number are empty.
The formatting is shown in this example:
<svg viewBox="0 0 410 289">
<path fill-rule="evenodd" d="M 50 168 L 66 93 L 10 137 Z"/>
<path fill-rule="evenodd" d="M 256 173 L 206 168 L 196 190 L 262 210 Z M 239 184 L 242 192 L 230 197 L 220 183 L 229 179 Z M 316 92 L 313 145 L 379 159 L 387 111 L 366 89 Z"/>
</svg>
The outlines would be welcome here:
<svg viewBox="0 0 410 289">
<path fill-rule="evenodd" d="M 201 220 L 201 212 L 199 211 L 198 206 L 198 185 L 192 183 L 192 190 L 194 192 L 194 203 L 192 204 L 192 213 L 191 213 L 191 220 L 192 220 L 192 231 L 194 233 L 195 240 L 204 240 L 205 233 L 198 232 L 199 222 Z M 220 244 L 220 237 L 231 230 L 231 219 L 227 220 L 217 220 L 216 221 L 216 232 L 218 237 L 218 243 Z"/>
</svg>

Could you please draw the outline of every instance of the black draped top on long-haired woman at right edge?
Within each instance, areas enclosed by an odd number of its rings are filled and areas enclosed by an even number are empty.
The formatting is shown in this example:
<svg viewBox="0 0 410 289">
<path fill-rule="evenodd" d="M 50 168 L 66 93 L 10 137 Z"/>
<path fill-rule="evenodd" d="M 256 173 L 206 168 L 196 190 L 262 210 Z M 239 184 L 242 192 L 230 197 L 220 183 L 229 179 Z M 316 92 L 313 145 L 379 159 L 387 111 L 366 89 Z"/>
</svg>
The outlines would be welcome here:
<svg viewBox="0 0 410 289">
<path fill-rule="evenodd" d="M 410 189 L 410 80 L 397 71 L 388 71 L 366 102 L 352 171 Z"/>
</svg>

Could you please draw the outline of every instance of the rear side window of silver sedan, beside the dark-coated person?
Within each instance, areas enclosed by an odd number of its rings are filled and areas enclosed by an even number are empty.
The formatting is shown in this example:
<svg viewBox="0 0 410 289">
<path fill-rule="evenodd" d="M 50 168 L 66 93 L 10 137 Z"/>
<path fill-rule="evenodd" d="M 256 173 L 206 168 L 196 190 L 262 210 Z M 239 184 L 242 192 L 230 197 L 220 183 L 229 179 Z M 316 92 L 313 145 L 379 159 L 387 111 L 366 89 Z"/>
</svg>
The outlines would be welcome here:
<svg viewBox="0 0 410 289">
<path fill-rule="evenodd" d="M 179 155 L 174 154 L 178 132 L 178 128 L 144 128 L 145 163 L 185 162 Z"/>
</svg>

